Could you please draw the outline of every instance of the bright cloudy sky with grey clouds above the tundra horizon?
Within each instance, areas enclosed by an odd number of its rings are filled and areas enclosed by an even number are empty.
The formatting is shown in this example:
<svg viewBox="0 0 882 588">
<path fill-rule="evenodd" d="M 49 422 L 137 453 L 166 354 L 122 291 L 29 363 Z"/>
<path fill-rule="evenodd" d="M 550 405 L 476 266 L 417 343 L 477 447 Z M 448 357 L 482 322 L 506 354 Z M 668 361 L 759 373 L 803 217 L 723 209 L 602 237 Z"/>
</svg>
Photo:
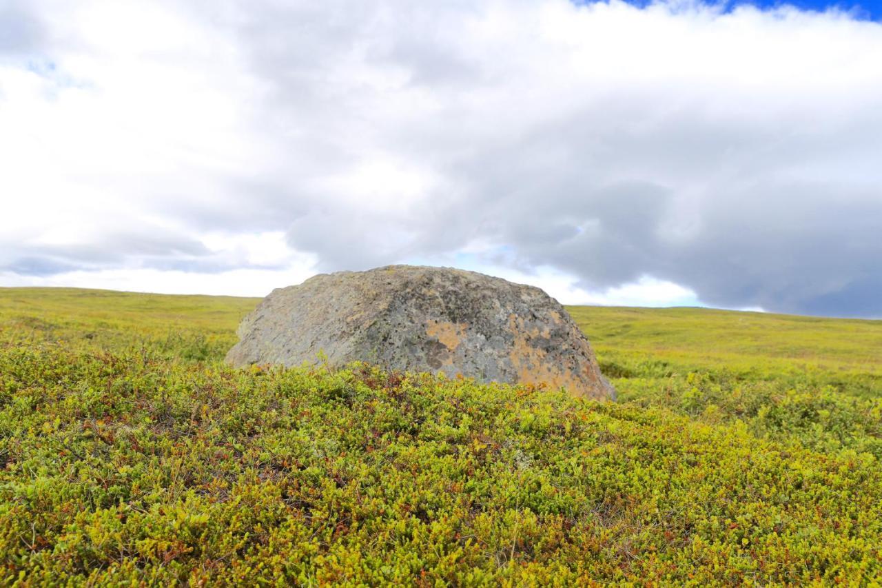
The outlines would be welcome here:
<svg viewBox="0 0 882 588">
<path fill-rule="evenodd" d="M 0 286 L 455 266 L 882 317 L 882 7 L 0 0 Z"/>
</svg>

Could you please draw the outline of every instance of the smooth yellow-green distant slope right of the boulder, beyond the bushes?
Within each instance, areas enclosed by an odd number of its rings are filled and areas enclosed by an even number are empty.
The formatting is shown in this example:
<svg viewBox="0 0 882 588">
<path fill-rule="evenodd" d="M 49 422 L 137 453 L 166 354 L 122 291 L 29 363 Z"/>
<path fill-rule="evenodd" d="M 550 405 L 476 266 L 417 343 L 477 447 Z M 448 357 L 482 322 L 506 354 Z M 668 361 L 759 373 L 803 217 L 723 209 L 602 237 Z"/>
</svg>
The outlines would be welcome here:
<svg viewBox="0 0 882 588">
<path fill-rule="evenodd" d="M 601 354 L 665 358 L 684 368 L 820 369 L 882 375 L 882 321 L 704 308 L 571 306 Z"/>
</svg>

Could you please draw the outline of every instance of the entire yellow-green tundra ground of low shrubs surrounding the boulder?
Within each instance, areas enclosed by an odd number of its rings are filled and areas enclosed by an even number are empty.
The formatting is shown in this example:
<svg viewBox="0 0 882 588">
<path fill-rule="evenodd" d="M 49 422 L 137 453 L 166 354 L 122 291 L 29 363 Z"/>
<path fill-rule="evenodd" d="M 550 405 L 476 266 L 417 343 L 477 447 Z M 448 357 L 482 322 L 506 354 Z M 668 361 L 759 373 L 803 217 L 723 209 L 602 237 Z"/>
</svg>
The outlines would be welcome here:
<svg viewBox="0 0 882 588">
<path fill-rule="evenodd" d="M 229 369 L 256 303 L 0 289 L 0 583 L 882 578 L 878 321 L 573 307 L 595 403 Z"/>
</svg>

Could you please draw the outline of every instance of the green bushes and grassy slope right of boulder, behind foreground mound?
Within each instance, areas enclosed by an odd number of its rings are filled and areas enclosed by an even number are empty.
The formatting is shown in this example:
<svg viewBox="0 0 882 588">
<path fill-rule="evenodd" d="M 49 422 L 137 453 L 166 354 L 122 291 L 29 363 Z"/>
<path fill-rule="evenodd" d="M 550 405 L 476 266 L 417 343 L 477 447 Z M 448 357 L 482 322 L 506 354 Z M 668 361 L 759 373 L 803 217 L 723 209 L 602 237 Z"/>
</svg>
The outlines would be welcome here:
<svg viewBox="0 0 882 588">
<path fill-rule="evenodd" d="M 882 459 L 882 321 L 696 308 L 569 309 L 622 403 Z"/>
</svg>

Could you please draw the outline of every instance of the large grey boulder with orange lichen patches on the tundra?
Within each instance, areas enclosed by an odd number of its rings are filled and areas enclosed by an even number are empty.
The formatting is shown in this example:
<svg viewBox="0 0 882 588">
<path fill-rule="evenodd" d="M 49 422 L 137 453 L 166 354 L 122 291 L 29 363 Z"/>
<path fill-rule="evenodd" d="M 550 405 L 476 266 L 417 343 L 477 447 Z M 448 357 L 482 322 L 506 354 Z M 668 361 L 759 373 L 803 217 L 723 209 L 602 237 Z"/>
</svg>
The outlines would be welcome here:
<svg viewBox="0 0 882 588">
<path fill-rule="evenodd" d="M 273 290 L 239 327 L 234 366 L 333 366 L 462 374 L 614 398 L 585 335 L 533 286 L 452 268 L 389 266 Z"/>
</svg>

